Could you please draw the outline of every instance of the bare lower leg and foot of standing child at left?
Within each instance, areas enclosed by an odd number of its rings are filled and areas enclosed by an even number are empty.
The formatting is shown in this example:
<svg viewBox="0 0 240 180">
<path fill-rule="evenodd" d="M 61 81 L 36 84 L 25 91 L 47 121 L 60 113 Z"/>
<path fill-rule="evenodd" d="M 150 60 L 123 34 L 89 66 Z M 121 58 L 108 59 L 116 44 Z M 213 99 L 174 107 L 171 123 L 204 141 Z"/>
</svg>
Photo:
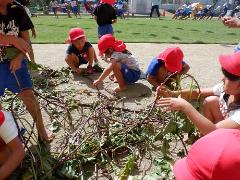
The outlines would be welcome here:
<svg viewBox="0 0 240 180">
<path fill-rule="evenodd" d="M 31 114 L 33 120 L 36 122 L 39 136 L 42 140 L 51 142 L 54 138 L 52 133 L 47 133 L 42 119 L 42 113 L 38 101 L 36 100 L 31 89 L 24 90 L 18 94 L 23 103 L 26 105 L 27 110 Z"/>
</svg>

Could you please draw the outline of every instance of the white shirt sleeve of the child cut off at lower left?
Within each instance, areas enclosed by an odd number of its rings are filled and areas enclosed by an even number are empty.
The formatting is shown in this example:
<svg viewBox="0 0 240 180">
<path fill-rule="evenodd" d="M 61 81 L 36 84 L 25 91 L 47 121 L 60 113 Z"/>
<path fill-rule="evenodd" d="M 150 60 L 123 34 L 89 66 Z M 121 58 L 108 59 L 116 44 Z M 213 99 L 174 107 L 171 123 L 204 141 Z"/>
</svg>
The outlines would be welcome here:
<svg viewBox="0 0 240 180">
<path fill-rule="evenodd" d="M 18 130 L 10 112 L 0 110 L 0 116 L 0 137 L 7 144 L 18 136 Z"/>
</svg>

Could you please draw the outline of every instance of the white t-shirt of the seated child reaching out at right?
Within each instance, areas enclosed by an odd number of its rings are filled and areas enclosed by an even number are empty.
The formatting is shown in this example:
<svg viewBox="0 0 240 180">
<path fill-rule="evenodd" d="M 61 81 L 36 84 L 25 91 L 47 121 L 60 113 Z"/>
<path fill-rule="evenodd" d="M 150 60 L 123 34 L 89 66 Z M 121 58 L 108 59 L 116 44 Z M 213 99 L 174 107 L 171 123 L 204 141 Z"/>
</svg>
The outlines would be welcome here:
<svg viewBox="0 0 240 180">
<path fill-rule="evenodd" d="M 234 122 L 240 124 L 240 104 L 238 105 L 239 108 L 236 108 L 234 110 L 230 110 L 227 102 L 229 95 L 227 95 L 224 92 L 224 84 L 220 83 L 217 84 L 213 87 L 213 93 L 216 96 L 219 96 L 219 106 L 220 106 L 220 111 L 224 117 L 224 119 L 229 118 L 233 120 Z"/>
</svg>

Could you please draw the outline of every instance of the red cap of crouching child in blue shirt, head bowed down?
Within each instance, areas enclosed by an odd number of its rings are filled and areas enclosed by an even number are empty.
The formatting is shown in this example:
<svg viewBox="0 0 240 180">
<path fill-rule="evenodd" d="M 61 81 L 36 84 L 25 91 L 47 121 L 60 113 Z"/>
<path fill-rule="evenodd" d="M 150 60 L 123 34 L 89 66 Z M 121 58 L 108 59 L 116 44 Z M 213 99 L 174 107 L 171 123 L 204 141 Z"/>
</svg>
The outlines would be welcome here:
<svg viewBox="0 0 240 180">
<path fill-rule="evenodd" d="M 160 53 L 157 59 L 161 59 L 165 63 L 165 67 L 170 72 L 181 72 L 183 52 L 179 47 L 167 48 Z"/>
</svg>

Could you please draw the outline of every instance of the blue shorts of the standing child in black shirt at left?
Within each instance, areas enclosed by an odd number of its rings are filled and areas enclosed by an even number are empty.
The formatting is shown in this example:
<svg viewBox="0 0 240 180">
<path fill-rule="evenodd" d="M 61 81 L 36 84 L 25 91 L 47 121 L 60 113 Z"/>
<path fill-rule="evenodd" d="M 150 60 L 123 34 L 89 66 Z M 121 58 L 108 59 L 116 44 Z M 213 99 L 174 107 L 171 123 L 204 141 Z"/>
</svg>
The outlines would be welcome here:
<svg viewBox="0 0 240 180">
<path fill-rule="evenodd" d="M 32 88 L 32 81 L 27 69 L 27 60 L 22 61 L 22 67 L 15 72 L 10 71 L 10 63 L 0 63 L 0 96 L 4 95 L 5 89 L 13 93 L 20 93 L 25 89 Z M 18 84 L 19 82 L 19 84 Z"/>
</svg>

